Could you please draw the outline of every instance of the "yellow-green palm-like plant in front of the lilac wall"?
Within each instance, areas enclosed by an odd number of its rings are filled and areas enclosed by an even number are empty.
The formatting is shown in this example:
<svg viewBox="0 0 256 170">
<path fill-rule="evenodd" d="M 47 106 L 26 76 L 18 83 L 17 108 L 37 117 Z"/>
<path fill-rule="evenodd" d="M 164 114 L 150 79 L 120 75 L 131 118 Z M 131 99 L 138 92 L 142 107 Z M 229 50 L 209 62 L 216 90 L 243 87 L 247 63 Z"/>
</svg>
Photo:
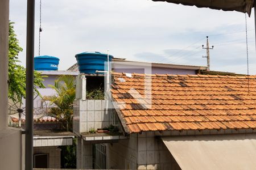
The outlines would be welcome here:
<svg viewBox="0 0 256 170">
<path fill-rule="evenodd" d="M 44 96 L 44 99 L 51 101 L 49 116 L 63 122 L 65 130 L 72 131 L 73 102 L 76 98 L 75 78 L 71 75 L 59 76 L 54 86 L 49 85 L 49 87 L 56 92 L 56 95 Z"/>
</svg>

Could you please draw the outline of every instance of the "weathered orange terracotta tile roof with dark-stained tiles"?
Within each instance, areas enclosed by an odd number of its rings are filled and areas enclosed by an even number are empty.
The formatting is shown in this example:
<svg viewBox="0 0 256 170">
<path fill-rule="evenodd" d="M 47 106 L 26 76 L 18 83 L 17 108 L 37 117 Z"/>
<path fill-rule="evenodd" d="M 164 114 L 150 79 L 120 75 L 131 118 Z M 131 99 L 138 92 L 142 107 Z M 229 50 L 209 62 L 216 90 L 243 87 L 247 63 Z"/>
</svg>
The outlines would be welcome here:
<svg viewBox="0 0 256 170">
<path fill-rule="evenodd" d="M 250 92 L 246 76 L 113 73 L 112 97 L 129 133 L 254 129 L 256 76 L 249 83 Z"/>
</svg>

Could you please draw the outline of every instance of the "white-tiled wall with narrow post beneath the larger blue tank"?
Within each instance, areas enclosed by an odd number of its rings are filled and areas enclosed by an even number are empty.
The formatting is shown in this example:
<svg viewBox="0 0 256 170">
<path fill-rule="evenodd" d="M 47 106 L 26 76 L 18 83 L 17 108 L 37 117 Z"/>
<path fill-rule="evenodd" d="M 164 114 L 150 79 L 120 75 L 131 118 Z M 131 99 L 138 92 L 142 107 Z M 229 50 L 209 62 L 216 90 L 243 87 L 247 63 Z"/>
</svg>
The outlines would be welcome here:
<svg viewBox="0 0 256 170">
<path fill-rule="evenodd" d="M 109 100 L 87 100 L 85 75 L 76 78 L 76 100 L 74 101 L 73 131 L 77 135 L 91 129 L 105 128 L 112 124 L 113 109 Z"/>
</svg>

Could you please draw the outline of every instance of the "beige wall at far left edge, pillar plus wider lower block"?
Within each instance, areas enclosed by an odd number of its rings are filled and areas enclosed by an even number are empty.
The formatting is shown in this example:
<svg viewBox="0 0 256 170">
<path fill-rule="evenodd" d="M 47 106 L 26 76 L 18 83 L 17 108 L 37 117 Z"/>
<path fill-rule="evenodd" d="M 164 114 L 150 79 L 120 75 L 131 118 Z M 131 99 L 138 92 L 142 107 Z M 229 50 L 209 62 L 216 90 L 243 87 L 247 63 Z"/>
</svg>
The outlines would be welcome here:
<svg viewBox="0 0 256 170">
<path fill-rule="evenodd" d="M 9 0 L 0 1 L 0 169 L 23 169 L 21 131 L 7 127 Z"/>
</svg>

